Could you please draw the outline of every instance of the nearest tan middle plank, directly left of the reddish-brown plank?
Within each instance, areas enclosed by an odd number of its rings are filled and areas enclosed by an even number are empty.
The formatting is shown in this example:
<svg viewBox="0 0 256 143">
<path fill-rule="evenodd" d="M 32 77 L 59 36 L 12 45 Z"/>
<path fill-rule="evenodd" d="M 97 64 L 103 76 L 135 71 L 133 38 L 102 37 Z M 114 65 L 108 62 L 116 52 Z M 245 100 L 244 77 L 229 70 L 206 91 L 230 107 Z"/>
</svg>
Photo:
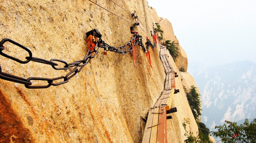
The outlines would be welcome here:
<svg viewBox="0 0 256 143">
<path fill-rule="evenodd" d="M 156 143 L 156 138 L 157 138 L 157 128 L 158 128 L 158 119 L 159 119 L 159 109 L 160 108 L 155 108 L 154 109 L 154 117 L 153 117 L 153 122 L 152 122 L 152 129 L 151 129 L 151 134 L 150 134 L 150 141 L 149 143 Z"/>
</svg>

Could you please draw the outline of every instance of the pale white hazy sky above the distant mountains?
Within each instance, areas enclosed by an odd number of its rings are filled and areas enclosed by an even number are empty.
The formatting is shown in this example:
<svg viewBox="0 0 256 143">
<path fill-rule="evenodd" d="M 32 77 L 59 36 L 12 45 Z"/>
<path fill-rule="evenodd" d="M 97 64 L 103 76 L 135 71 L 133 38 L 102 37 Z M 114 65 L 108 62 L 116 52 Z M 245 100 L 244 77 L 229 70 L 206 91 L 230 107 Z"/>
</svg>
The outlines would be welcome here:
<svg viewBox="0 0 256 143">
<path fill-rule="evenodd" d="M 189 63 L 256 62 L 256 0 L 148 0 L 167 18 Z"/>
</svg>

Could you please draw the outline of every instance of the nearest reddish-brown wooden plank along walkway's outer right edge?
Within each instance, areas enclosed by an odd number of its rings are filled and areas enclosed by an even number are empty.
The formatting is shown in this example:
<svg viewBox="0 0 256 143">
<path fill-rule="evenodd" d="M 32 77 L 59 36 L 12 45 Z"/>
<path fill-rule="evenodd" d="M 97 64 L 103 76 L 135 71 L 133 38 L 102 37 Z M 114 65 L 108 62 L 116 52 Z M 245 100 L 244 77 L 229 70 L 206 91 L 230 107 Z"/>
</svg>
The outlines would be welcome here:
<svg viewBox="0 0 256 143">
<path fill-rule="evenodd" d="M 166 108 L 160 108 L 158 129 L 157 129 L 157 143 L 167 143 L 167 120 L 166 120 Z"/>
</svg>

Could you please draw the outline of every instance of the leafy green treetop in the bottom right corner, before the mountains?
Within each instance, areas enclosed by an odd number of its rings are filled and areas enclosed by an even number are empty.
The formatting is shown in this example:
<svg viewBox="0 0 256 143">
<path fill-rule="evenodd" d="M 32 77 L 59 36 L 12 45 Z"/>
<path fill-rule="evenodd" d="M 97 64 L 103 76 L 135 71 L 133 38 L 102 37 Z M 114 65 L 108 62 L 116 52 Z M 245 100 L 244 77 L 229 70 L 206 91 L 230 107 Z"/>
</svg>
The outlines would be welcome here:
<svg viewBox="0 0 256 143">
<path fill-rule="evenodd" d="M 218 131 L 211 133 L 220 137 L 220 141 L 224 143 L 256 143 L 256 118 L 251 123 L 245 119 L 245 122 L 239 126 L 236 122 L 225 120 L 223 126 L 215 126 L 215 129 Z"/>
</svg>

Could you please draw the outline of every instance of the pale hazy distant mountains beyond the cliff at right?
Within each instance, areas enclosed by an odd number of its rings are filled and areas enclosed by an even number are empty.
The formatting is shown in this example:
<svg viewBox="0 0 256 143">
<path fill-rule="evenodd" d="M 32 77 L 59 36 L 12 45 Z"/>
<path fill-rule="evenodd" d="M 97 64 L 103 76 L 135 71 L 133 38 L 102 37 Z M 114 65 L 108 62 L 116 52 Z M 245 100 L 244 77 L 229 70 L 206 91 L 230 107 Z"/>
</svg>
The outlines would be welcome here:
<svg viewBox="0 0 256 143">
<path fill-rule="evenodd" d="M 209 67 L 189 64 L 201 92 L 202 122 L 211 130 L 225 120 L 256 118 L 256 63 L 239 61 Z"/>
</svg>

